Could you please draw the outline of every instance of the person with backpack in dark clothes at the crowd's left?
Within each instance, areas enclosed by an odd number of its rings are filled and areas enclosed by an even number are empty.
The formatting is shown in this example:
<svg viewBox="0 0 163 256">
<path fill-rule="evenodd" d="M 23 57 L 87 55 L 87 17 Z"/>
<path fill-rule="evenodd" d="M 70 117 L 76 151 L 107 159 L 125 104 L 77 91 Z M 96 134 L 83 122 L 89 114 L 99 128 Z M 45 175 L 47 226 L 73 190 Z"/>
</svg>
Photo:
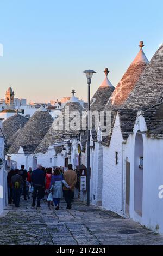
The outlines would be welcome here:
<svg viewBox="0 0 163 256">
<path fill-rule="evenodd" d="M 19 175 L 19 170 L 15 170 L 15 174 L 11 177 L 12 191 L 13 191 L 13 199 L 15 207 L 19 207 L 21 190 L 24 185 L 24 181 Z"/>
</svg>

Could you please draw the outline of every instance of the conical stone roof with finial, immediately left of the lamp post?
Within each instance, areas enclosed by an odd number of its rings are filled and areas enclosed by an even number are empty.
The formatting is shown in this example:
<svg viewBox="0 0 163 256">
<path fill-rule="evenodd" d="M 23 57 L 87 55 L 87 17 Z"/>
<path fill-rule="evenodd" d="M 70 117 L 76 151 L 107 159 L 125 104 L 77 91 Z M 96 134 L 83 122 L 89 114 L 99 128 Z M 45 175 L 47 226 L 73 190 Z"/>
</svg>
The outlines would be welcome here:
<svg viewBox="0 0 163 256">
<path fill-rule="evenodd" d="M 72 98 L 66 103 L 64 108 L 61 110 L 60 116 L 53 122 L 51 128 L 49 128 L 47 134 L 37 146 L 35 153 L 46 153 L 48 147 L 56 143 L 64 142 L 65 137 L 70 138 L 70 134 L 79 134 L 78 129 L 72 130 L 71 127 L 68 127 L 69 123 L 73 120 L 73 117 L 67 115 L 67 111 L 71 114 L 72 111 L 77 111 L 82 117 L 83 106 L 80 104 L 79 100 L 74 96 L 74 90 L 72 91 Z M 67 121 L 66 121 L 67 120 Z M 55 130 L 55 124 L 63 123 L 63 127 L 60 130 Z M 81 120 L 79 120 L 80 122 Z M 69 129 L 68 129 L 69 128 Z"/>
</svg>

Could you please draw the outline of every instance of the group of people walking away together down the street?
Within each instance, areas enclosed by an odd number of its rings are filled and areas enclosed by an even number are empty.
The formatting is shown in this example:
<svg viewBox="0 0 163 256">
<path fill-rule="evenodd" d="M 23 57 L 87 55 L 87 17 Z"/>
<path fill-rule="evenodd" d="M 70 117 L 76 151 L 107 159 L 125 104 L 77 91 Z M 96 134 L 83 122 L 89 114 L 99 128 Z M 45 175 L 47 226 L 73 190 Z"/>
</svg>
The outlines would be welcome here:
<svg viewBox="0 0 163 256">
<path fill-rule="evenodd" d="M 30 199 L 32 193 L 32 207 L 40 207 L 41 199 L 48 202 L 48 207 L 54 206 L 59 209 L 60 198 L 64 197 L 67 203 L 67 209 L 71 209 L 72 199 L 74 197 L 74 187 L 77 182 L 77 174 L 72 169 L 72 164 L 68 165 L 68 170 L 62 172 L 59 168 L 52 173 L 52 168 L 44 168 L 40 164 L 37 169 L 32 171 L 29 168 L 27 172 L 24 165 L 21 169 L 10 170 L 8 173 L 8 203 L 12 202 L 15 207 L 20 206 L 21 193 L 24 200 Z"/>
</svg>

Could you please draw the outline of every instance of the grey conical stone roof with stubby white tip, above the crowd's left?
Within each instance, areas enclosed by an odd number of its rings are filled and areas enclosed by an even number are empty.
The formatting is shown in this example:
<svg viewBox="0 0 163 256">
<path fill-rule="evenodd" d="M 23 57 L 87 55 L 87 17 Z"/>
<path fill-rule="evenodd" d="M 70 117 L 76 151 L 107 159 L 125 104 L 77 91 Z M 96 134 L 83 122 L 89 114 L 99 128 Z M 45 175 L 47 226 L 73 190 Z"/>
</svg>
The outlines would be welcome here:
<svg viewBox="0 0 163 256">
<path fill-rule="evenodd" d="M 9 154 L 17 154 L 20 147 L 24 153 L 32 154 L 53 123 L 53 118 L 42 106 L 38 109 L 29 121 L 22 128 L 21 132 L 9 148 Z"/>
</svg>

